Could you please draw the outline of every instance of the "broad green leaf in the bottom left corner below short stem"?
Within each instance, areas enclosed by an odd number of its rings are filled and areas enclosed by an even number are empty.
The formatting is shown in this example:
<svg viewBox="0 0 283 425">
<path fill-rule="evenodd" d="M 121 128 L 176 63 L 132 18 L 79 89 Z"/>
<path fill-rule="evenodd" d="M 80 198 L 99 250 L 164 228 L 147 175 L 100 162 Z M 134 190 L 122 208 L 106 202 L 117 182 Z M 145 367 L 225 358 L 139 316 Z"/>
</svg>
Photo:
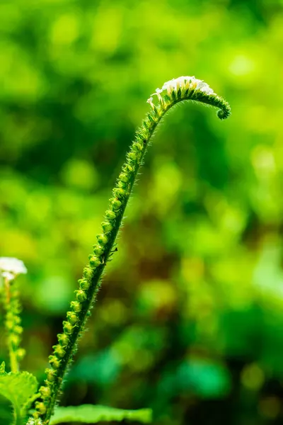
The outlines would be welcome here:
<svg viewBox="0 0 283 425">
<path fill-rule="evenodd" d="M 25 416 L 26 405 L 36 390 L 37 380 L 31 373 L 6 373 L 4 363 L 1 364 L 0 394 L 13 403 L 17 419 Z"/>
</svg>

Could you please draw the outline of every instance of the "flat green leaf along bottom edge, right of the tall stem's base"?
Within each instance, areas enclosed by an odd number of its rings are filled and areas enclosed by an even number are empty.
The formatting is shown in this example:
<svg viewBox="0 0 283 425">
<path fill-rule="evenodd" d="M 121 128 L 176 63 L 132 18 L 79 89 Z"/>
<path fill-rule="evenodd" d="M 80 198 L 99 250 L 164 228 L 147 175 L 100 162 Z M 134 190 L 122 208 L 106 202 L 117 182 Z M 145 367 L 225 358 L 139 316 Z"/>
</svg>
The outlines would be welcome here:
<svg viewBox="0 0 283 425">
<path fill-rule="evenodd" d="M 100 421 L 123 421 L 124 419 L 149 424 L 152 420 L 151 416 L 151 409 L 123 410 L 98 404 L 82 404 L 81 406 L 57 407 L 50 425 L 61 424 L 62 422 L 97 424 Z"/>
</svg>

